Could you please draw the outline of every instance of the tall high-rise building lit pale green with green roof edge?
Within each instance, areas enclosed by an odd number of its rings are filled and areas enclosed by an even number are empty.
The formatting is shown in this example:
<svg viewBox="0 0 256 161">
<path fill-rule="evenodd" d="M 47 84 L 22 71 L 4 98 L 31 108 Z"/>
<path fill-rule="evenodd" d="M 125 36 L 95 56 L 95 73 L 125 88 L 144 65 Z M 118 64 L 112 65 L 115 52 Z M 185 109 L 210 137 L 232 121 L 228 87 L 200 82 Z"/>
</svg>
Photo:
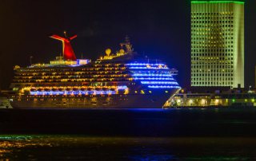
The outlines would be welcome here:
<svg viewBox="0 0 256 161">
<path fill-rule="evenodd" d="M 192 87 L 244 87 L 244 3 L 191 1 Z"/>
</svg>

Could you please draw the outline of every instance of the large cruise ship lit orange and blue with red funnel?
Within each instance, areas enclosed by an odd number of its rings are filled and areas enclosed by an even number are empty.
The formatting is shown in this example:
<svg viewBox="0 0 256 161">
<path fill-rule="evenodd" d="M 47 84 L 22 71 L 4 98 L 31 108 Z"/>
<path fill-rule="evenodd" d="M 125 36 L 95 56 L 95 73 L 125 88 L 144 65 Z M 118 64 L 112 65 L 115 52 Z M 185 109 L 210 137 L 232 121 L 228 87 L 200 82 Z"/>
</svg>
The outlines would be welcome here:
<svg viewBox="0 0 256 161">
<path fill-rule="evenodd" d="M 180 90 L 176 69 L 134 52 L 130 40 L 96 61 L 78 59 L 70 41 L 49 64 L 14 67 L 10 96 L 14 108 L 163 108 Z"/>
</svg>

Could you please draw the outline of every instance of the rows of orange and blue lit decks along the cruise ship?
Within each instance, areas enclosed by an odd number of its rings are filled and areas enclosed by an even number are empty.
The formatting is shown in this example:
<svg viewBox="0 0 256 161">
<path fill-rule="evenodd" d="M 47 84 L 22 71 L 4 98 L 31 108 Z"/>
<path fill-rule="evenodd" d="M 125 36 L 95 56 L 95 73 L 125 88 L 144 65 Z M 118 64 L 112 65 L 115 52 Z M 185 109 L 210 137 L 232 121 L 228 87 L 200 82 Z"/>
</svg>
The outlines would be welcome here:
<svg viewBox="0 0 256 161">
<path fill-rule="evenodd" d="M 22 92 L 29 91 L 30 95 L 112 95 L 128 94 L 127 81 L 140 83 L 146 88 L 180 88 L 173 78 L 176 72 L 160 63 L 93 64 L 90 68 L 18 69 L 14 82 L 33 84 L 22 88 Z M 52 85 L 55 82 L 69 85 Z"/>
</svg>

